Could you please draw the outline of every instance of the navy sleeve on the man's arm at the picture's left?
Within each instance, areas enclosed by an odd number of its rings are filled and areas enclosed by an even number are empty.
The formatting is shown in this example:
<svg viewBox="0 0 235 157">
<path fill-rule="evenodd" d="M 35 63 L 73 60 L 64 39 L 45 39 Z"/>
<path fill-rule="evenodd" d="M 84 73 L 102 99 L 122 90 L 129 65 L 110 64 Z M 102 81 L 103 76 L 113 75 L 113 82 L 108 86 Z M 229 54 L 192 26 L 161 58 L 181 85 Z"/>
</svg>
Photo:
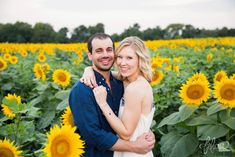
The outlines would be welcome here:
<svg viewBox="0 0 235 157">
<path fill-rule="evenodd" d="M 79 82 L 70 92 L 69 105 L 74 123 L 85 139 L 86 145 L 94 146 L 99 150 L 111 149 L 118 137 L 102 129 L 92 90 Z"/>
</svg>

